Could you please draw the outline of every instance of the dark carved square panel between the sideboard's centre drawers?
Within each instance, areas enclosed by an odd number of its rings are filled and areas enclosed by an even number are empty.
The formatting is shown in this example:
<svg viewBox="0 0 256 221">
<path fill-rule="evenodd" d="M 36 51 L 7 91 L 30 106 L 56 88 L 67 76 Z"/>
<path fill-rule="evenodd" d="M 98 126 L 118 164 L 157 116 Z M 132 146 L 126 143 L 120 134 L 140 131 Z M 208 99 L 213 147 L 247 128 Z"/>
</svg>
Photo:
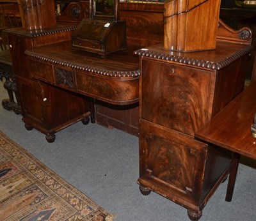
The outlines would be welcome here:
<svg viewBox="0 0 256 221">
<path fill-rule="evenodd" d="M 56 83 L 68 88 L 74 88 L 74 74 L 72 71 L 64 70 L 61 68 L 54 68 Z"/>
</svg>

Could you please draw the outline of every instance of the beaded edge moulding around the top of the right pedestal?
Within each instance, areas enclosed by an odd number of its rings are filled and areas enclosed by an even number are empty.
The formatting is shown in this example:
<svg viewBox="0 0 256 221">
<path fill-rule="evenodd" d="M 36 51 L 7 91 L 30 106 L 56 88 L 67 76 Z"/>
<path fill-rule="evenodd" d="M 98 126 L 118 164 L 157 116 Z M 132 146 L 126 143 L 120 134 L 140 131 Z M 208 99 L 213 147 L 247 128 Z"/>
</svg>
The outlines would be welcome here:
<svg viewBox="0 0 256 221">
<path fill-rule="evenodd" d="M 139 56 L 161 59 L 164 61 L 174 61 L 177 63 L 186 64 L 186 65 L 200 66 L 202 68 L 209 68 L 212 70 L 220 70 L 221 68 L 225 68 L 225 66 L 230 65 L 231 63 L 233 63 L 240 57 L 243 57 L 244 55 L 248 54 L 251 50 L 253 50 L 253 46 L 249 45 L 248 47 L 244 47 L 244 49 L 241 49 L 239 52 L 232 54 L 231 56 L 225 58 L 223 61 L 220 61 L 218 63 L 215 63 L 212 61 L 193 59 L 193 58 L 189 58 L 189 57 L 163 54 L 163 53 L 158 53 L 158 52 L 145 50 L 145 49 L 135 50 L 134 54 L 139 55 Z"/>
</svg>

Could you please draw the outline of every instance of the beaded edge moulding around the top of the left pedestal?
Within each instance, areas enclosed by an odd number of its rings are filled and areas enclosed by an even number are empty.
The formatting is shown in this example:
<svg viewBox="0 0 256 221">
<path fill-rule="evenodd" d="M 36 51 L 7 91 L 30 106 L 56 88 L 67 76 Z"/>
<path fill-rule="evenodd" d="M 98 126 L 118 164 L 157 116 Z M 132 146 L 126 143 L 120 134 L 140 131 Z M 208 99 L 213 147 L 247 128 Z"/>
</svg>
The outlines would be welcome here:
<svg viewBox="0 0 256 221">
<path fill-rule="evenodd" d="M 4 30 L 5 33 L 10 33 L 10 34 L 15 34 L 17 36 L 23 36 L 26 38 L 35 38 L 38 36 L 44 36 L 44 35 L 48 35 L 48 34 L 55 34 L 55 33 L 60 33 L 60 32 L 64 32 L 64 31 L 74 31 L 76 30 L 77 26 L 68 26 L 68 27 L 60 27 L 58 29 L 52 29 L 52 30 L 42 30 L 42 31 L 38 31 L 38 32 L 34 32 L 33 31 L 19 31 L 19 30 L 13 30 L 13 29 L 6 29 Z"/>
</svg>

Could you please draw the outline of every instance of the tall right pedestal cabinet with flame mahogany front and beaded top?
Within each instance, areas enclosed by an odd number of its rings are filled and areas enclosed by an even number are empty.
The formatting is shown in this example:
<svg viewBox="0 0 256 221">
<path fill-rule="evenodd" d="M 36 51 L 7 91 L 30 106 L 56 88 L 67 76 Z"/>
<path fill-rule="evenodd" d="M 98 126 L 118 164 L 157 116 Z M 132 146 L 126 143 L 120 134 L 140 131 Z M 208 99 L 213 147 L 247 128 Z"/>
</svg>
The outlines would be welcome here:
<svg viewBox="0 0 256 221">
<path fill-rule="evenodd" d="M 141 193 L 157 192 L 198 220 L 227 178 L 231 153 L 196 141 L 204 126 L 244 87 L 251 46 L 218 42 L 216 50 L 167 52 L 161 45 L 140 55 Z M 220 128 L 221 130 L 221 128 Z"/>
</svg>

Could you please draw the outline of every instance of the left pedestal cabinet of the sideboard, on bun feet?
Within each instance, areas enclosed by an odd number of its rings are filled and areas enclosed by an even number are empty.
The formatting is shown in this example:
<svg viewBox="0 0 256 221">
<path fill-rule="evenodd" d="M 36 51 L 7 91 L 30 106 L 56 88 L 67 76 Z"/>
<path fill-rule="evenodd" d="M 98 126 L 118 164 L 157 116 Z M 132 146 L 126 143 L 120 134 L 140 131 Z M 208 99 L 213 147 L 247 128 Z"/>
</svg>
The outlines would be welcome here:
<svg viewBox="0 0 256 221">
<path fill-rule="evenodd" d="M 28 31 L 19 27 L 6 31 L 20 95 L 22 121 L 28 130 L 36 128 L 45 133 L 48 142 L 54 142 L 54 133 L 72 123 L 82 120 L 87 124 L 89 117 L 93 115 L 93 104 L 86 96 L 75 95 L 33 79 L 33 73 L 28 70 L 29 61 L 25 51 L 71 40 L 75 28 L 76 26 L 58 25 L 44 30 Z M 65 73 L 61 74 L 68 79 Z"/>
</svg>

